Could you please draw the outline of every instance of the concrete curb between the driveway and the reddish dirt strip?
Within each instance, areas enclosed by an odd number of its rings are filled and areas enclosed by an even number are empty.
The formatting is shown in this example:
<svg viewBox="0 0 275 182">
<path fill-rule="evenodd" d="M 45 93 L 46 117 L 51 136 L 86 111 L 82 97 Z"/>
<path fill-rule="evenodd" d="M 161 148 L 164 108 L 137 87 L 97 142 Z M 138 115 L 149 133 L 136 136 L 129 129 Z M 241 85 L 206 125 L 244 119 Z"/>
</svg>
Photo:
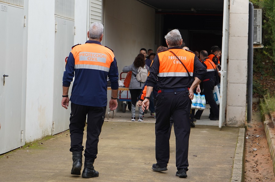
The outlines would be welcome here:
<svg viewBox="0 0 275 182">
<path fill-rule="evenodd" d="M 245 128 L 240 128 L 238 138 L 237 138 L 237 147 L 235 150 L 231 182 L 244 181 L 244 151 L 245 151 L 244 137 L 245 137 Z"/>
</svg>

